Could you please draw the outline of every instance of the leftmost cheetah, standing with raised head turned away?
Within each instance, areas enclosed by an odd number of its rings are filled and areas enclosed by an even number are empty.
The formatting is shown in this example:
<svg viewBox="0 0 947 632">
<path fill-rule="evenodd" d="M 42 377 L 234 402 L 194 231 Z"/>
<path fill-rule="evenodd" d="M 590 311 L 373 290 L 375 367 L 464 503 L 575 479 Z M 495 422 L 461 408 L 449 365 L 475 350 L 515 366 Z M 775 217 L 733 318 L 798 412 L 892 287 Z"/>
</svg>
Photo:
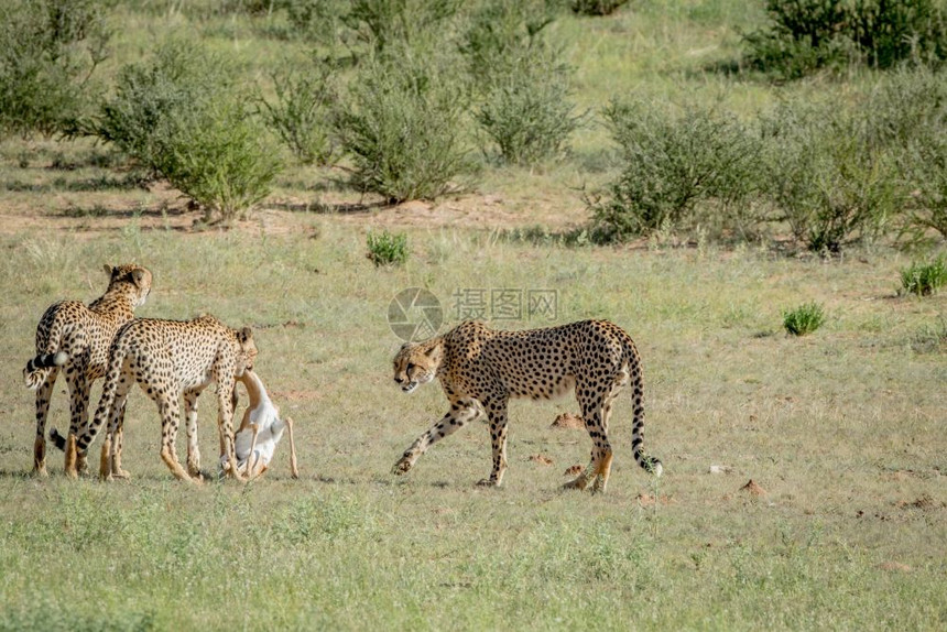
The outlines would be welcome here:
<svg viewBox="0 0 947 632">
<path fill-rule="evenodd" d="M 46 417 L 59 371 L 69 386 L 69 434 L 88 422 L 89 389 L 106 372 L 109 345 L 119 327 L 134 317 L 151 292 L 151 272 L 140 265 L 106 265 L 109 286 L 86 307 L 78 301 L 51 305 L 36 326 L 36 356 L 26 362 L 23 381 L 36 391 L 36 438 L 33 442 L 33 473 L 46 472 Z M 52 429 L 54 442 L 58 433 Z M 120 439 L 119 439 L 120 440 Z"/>
</svg>

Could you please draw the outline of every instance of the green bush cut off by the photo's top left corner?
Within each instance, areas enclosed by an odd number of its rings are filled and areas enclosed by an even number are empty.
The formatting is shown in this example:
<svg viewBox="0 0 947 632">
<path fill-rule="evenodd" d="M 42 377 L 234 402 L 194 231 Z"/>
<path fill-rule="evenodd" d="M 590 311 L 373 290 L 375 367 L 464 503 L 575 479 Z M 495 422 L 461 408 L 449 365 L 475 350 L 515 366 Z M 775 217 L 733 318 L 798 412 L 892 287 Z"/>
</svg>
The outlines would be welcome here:
<svg viewBox="0 0 947 632">
<path fill-rule="evenodd" d="M 85 112 L 107 57 L 105 12 L 96 0 L 0 3 L 0 133 L 52 137 Z"/>
</svg>

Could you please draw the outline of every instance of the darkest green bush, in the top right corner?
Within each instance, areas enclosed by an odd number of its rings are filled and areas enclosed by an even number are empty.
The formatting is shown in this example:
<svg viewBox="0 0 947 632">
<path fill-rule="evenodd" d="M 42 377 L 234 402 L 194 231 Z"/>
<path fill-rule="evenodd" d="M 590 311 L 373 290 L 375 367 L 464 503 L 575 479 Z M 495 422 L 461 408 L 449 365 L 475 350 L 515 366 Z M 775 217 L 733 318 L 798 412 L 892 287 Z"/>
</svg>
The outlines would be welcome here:
<svg viewBox="0 0 947 632">
<path fill-rule="evenodd" d="M 947 58 L 936 0 L 766 0 L 770 24 L 743 37 L 751 65 L 794 79 L 819 68 Z"/>
</svg>

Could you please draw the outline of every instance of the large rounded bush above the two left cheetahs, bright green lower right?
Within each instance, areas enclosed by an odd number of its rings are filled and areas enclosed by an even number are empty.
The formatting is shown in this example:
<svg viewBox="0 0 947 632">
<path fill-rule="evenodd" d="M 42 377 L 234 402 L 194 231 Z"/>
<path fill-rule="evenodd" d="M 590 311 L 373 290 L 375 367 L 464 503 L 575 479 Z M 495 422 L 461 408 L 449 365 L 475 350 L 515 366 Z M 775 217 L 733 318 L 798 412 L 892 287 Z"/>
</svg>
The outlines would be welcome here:
<svg viewBox="0 0 947 632">
<path fill-rule="evenodd" d="M 280 168 L 227 66 L 182 42 L 122 68 L 115 96 L 85 127 L 166 177 L 208 219 L 244 214 Z"/>
</svg>

